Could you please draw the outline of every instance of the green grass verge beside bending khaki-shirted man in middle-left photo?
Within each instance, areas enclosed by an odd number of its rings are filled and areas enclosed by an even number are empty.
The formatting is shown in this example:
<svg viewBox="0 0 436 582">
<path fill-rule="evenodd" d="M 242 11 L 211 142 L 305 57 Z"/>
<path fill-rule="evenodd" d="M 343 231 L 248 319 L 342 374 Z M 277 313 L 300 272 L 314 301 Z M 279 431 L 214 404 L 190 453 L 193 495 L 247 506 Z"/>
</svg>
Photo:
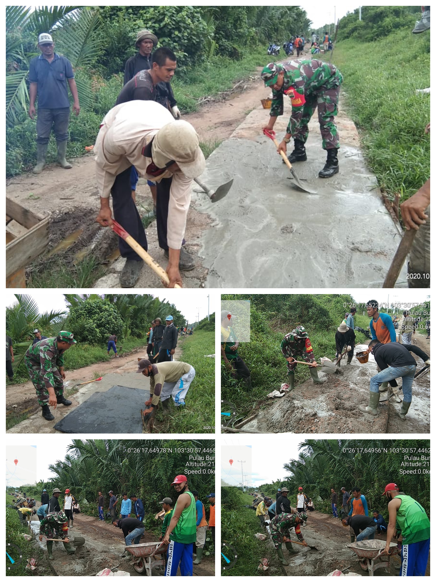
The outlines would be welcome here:
<svg viewBox="0 0 436 582">
<path fill-rule="evenodd" d="M 163 416 L 159 410 L 160 432 L 215 433 L 215 358 L 205 358 L 215 353 L 215 332 L 198 330 L 179 341 L 183 342 L 181 360 L 194 367 L 195 378 L 183 409 L 176 409 L 171 402 L 169 414 Z"/>
</svg>

